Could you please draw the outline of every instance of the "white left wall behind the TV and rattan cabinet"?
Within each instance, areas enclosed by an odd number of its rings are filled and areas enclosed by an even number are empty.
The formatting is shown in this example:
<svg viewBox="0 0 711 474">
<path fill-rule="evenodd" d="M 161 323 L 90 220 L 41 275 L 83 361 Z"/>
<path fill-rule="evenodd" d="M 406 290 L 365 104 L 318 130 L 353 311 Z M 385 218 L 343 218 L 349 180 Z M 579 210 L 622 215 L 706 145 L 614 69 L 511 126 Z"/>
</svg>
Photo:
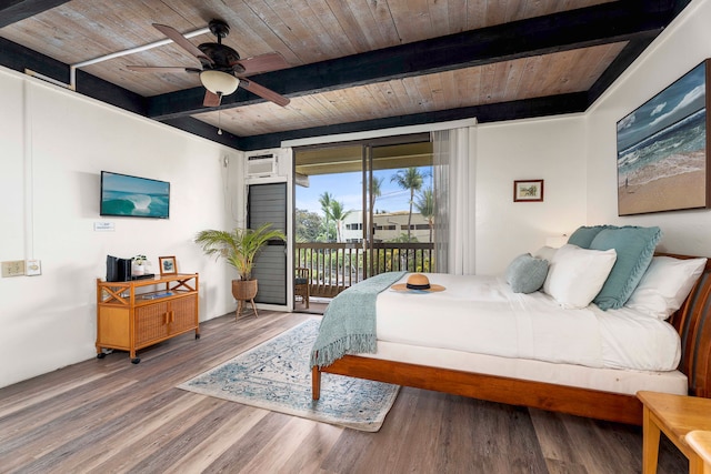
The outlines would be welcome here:
<svg viewBox="0 0 711 474">
<path fill-rule="evenodd" d="M 241 152 L 6 69 L 0 103 L 0 261 L 42 263 L 40 276 L 0 279 L 0 386 L 96 355 L 107 254 L 146 254 L 152 272 L 174 255 L 200 273 L 201 320 L 234 310 L 233 275 L 192 236 L 239 219 Z M 169 181 L 170 219 L 100 218 L 101 170 Z M 100 221 L 116 230 L 94 232 Z"/>
</svg>

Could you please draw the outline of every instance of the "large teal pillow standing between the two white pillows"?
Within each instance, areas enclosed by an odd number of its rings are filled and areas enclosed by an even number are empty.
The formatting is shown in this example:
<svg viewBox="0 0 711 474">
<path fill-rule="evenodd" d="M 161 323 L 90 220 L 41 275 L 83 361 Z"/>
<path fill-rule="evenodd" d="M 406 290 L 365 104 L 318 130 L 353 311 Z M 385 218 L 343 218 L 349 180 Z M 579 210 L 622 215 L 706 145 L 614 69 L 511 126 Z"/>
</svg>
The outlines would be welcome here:
<svg viewBox="0 0 711 474">
<path fill-rule="evenodd" d="M 614 249 L 618 260 L 592 302 L 601 310 L 622 307 L 652 262 L 657 242 L 661 236 L 662 231 L 657 226 L 610 226 L 601 230 L 592 240 L 590 249 Z"/>
</svg>

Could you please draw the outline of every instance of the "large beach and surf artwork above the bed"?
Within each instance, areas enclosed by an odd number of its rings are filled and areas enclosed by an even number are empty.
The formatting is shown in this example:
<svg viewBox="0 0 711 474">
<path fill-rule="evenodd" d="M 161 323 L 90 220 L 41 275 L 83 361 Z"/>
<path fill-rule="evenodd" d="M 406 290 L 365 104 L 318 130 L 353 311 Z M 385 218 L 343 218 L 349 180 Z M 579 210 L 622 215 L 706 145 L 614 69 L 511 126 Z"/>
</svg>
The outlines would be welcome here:
<svg viewBox="0 0 711 474">
<path fill-rule="evenodd" d="M 618 214 L 709 208 L 703 61 L 618 122 Z"/>
</svg>

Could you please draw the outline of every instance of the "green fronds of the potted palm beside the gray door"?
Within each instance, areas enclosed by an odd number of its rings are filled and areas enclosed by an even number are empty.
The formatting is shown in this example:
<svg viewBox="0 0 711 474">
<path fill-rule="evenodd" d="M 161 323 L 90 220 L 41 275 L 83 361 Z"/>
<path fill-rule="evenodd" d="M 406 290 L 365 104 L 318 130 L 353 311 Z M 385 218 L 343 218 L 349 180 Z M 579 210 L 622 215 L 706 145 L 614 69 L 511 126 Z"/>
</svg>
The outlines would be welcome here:
<svg viewBox="0 0 711 474">
<path fill-rule="evenodd" d="M 208 255 L 224 258 L 240 275 L 241 280 L 252 279 L 257 254 L 270 240 L 287 241 L 283 232 L 271 229 L 271 224 L 258 229 L 234 229 L 232 231 L 206 230 L 196 235 L 194 242 Z"/>
</svg>

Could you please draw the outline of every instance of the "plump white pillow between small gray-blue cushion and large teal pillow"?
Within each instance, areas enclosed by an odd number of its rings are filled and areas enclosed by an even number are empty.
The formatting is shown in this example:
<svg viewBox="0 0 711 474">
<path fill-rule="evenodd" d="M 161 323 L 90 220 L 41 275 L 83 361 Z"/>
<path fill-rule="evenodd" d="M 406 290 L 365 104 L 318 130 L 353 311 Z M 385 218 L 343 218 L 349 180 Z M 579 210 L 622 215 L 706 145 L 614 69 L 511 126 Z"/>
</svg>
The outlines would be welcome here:
<svg viewBox="0 0 711 474">
<path fill-rule="evenodd" d="M 614 249 L 588 250 L 565 244 L 550 262 L 543 292 L 565 309 L 585 307 L 602 289 L 617 258 Z"/>
</svg>

